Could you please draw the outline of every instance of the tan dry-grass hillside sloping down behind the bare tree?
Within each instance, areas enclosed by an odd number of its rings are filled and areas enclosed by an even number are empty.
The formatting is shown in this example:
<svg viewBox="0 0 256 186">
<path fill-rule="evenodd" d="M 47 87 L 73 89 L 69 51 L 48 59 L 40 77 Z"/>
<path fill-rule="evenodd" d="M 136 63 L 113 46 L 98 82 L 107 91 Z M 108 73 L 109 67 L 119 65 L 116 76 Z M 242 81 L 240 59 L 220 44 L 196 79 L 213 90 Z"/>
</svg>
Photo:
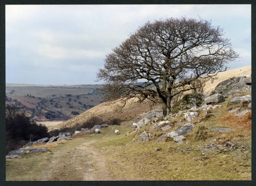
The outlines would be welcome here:
<svg viewBox="0 0 256 186">
<path fill-rule="evenodd" d="M 217 86 L 218 83 L 228 78 L 231 78 L 234 76 L 242 76 L 242 75 L 250 77 L 251 66 L 241 67 L 241 68 L 218 73 L 218 79 L 215 79 L 213 82 L 208 81 L 204 91 L 210 92 Z M 121 113 L 118 113 L 115 111 L 114 105 L 106 105 L 105 103 L 102 103 L 97 105 L 96 107 L 93 107 L 87 110 L 84 113 L 81 113 L 76 117 L 73 117 L 63 123 L 56 125 L 56 128 L 69 127 L 69 126 L 75 125 L 76 123 L 83 123 L 83 122 L 86 122 L 87 119 L 89 119 L 92 116 L 99 116 L 103 118 L 105 121 L 108 121 L 112 118 L 120 118 L 123 121 L 127 121 L 130 123 L 137 122 L 138 119 L 143 115 L 143 113 L 160 106 L 160 105 L 154 105 L 151 108 L 150 105 L 151 105 L 150 101 L 148 100 L 145 100 L 142 104 L 131 103 L 131 104 L 127 104 Z"/>
</svg>

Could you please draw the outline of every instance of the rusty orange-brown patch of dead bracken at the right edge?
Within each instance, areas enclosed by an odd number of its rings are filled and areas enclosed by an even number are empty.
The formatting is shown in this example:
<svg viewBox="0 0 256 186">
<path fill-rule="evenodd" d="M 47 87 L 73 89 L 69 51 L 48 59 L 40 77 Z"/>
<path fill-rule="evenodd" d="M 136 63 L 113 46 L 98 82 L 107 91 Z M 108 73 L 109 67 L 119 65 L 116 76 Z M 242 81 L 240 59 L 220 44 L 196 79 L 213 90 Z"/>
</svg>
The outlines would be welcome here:
<svg viewBox="0 0 256 186">
<path fill-rule="evenodd" d="M 251 131 L 252 129 L 252 112 L 248 112 L 242 116 L 234 116 L 227 114 L 219 119 L 220 122 L 225 122 L 229 126 L 235 126 L 238 130 Z"/>
</svg>

